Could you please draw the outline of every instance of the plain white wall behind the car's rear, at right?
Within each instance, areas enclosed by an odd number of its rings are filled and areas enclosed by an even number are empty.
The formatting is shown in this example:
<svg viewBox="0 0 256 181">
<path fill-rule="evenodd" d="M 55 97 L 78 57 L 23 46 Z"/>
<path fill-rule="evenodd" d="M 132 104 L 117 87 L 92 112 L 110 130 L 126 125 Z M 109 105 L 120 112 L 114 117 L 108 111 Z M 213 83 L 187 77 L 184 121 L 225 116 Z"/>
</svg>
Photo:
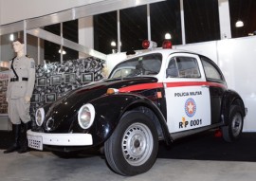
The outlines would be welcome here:
<svg viewBox="0 0 256 181">
<path fill-rule="evenodd" d="M 248 113 L 244 131 L 256 132 L 256 36 L 175 47 L 205 55 L 219 65 L 229 88 L 245 101 Z"/>
</svg>

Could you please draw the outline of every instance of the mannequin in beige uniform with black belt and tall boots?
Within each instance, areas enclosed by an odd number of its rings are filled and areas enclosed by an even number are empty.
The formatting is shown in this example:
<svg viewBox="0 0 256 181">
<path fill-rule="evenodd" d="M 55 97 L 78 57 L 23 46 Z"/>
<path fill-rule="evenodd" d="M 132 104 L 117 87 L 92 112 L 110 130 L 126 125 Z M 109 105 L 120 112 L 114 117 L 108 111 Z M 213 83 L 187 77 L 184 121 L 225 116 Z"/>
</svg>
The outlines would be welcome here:
<svg viewBox="0 0 256 181">
<path fill-rule="evenodd" d="M 31 122 L 29 107 L 35 82 L 35 63 L 32 58 L 25 55 L 22 39 L 14 40 L 12 46 L 17 56 L 9 62 L 7 101 L 14 143 L 4 151 L 4 154 L 15 151 L 21 154 L 27 152 L 27 129 Z"/>
</svg>

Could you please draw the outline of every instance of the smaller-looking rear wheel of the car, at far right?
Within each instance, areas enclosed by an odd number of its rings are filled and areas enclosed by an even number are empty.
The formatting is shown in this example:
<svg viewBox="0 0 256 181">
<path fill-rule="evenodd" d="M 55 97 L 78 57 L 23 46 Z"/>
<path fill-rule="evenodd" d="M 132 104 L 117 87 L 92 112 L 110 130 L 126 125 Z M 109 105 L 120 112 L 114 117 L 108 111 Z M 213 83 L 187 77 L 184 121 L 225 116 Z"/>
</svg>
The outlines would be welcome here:
<svg viewBox="0 0 256 181">
<path fill-rule="evenodd" d="M 225 141 L 233 142 L 237 140 L 243 131 L 244 118 L 243 111 L 239 105 L 231 105 L 229 111 L 229 123 L 222 127 L 222 135 Z"/>
</svg>

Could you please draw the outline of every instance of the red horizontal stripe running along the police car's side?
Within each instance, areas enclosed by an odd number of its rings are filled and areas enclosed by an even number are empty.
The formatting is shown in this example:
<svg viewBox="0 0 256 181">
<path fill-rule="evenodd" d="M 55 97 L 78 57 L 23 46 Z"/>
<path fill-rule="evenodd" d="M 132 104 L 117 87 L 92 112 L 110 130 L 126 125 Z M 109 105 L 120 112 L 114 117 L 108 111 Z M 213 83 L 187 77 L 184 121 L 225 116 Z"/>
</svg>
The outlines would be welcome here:
<svg viewBox="0 0 256 181">
<path fill-rule="evenodd" d="M 227 89 L 227 86 L 222 83 L 208 82 L 208 81 L 178 81 L 178 82 L 166 82 L 167 87 L 181 87 L 181 86 L 213 86 Z M 123 88 L 119 88 L 119 92 L 132 92 L 145 89 L 163 88 L 163 83 L 142 83 L 137 85 L 131 85 Z"/>
</svg>

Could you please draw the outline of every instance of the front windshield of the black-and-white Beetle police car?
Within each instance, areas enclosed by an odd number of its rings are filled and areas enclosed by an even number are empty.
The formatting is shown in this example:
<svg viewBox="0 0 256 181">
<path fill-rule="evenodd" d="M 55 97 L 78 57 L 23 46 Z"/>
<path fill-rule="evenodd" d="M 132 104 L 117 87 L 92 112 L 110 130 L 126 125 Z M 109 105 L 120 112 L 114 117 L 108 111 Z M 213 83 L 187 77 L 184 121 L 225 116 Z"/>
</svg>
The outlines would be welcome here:
<svg viewBox="0 0 256 181">
<path fill-rule="evenodd" d="M 162 64 L 162 55 L 159 53 L 143 55 L 119 63 L 112 71 L 110 78 L 126 78 L 144 75 L 157 75 Z"/>
</svg>

